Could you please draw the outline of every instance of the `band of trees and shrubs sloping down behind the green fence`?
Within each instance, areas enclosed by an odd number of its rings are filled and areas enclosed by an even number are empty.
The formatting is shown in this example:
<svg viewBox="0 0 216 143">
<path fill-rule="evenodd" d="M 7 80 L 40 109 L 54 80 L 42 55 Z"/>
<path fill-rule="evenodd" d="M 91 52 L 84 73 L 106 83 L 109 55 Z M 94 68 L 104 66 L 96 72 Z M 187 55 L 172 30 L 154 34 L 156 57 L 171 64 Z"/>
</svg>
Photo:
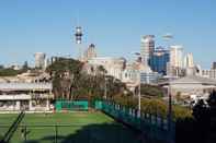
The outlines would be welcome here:
<svg viewBox="0 0 216 143">
<path fill-rule="evenodd" d="M 73 59 L 59 59 L 47 68 L 53 76 L 54 94 L 56 99 L 107 99 L 117 104 L 137 108 L 137 97 L 128 91 L 124 83 L 113 76 L 105 75 L 103 67 L 91 69 L 96 74 L 87 74 L 84 64 Z M 96 70 L 96 71 L 95 71 Z M 106 87 L 106 97 L 105 95 Z M 162 97 L 160 87 L 141 85 L 141 94 Z M 160 98 L 141 98 L 141 110 L 144 112 L 167 117 L 168 104 Z M 173 117 L 191 117 L 191 110 L 173 106 Z"/>
</svg>

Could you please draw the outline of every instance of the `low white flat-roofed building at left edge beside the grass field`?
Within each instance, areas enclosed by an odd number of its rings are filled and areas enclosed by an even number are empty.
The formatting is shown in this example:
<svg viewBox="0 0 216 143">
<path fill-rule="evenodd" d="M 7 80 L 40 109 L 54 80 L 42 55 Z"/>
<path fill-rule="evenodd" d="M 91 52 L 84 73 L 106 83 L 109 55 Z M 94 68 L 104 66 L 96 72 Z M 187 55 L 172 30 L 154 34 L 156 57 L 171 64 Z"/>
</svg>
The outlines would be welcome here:
<svg viewBox="0 0 216 143">
<path fill-rule="evenodd" d="M 0 83 L 0 111 L 48 111 L 52 83 Z"/>
</svg>

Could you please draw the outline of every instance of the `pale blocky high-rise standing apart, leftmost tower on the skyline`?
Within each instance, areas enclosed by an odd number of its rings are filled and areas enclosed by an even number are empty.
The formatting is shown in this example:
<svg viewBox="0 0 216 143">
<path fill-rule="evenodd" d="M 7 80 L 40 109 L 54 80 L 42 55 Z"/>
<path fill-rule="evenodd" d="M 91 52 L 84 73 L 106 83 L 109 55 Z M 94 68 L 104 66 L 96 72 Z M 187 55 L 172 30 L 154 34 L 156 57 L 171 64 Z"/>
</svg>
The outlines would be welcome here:
<svg viewBox="0 0 216 143">
<path fill-rule="evenodd" d="M 43 52 L 36 52 L 34 57 L 35 57 L 35 68 L 44 69 L 46 55 Z"/>
</svg>

